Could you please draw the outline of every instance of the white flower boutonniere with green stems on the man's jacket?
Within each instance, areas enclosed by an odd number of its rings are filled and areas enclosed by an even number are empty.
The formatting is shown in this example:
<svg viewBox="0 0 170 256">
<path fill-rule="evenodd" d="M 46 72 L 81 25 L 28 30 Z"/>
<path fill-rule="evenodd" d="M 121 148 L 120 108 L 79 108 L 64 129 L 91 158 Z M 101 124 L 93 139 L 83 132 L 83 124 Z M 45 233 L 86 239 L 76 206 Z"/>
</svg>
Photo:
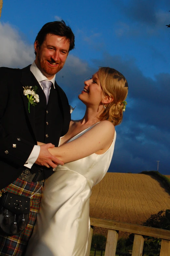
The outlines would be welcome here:
<svg viewBox="0 0 170 256">
<path fill-rule="evenodd" d="M 24 88 L 24 87 L 23 87 Z M 32 88 L 32 89 L 31 89 Z M 39 102 L 39 95 L 36 94 L 37 86 L 25 87 L 23 94 L 28 98 L 28 112 L 30 113 L 30 104 L 35 107 Z"/>
</svg>

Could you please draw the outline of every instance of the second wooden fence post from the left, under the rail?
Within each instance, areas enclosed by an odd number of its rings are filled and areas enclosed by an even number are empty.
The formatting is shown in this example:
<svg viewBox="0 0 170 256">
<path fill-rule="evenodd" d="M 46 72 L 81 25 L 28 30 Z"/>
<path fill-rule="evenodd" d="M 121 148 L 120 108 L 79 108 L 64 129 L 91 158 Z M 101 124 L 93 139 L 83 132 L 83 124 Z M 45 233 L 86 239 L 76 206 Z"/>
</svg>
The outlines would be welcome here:
<svg viewBox="0 0 170 256">
<path fill-rule="evenodd" d="M 118 233 L 116 230 L 108 230 L 106 250 L 104 256 L 115 256 Z"/>
</svg>

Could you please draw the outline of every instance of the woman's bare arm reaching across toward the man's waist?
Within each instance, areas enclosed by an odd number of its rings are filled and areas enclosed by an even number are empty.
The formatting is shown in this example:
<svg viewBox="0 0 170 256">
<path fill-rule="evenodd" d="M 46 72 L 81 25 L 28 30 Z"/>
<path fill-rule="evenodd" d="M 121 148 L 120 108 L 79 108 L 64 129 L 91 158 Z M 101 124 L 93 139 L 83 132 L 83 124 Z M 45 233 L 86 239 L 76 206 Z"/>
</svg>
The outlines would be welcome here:
<svg viewBox="0 0 170 256">
<path fill-rule="evenodd" d="M 109 121 L 101 121 L 77 139 L 49 152 L 64 163 L 76 161 L 100 150 L 107 150 L 112 143 L 115 127 Z"/>
</svg>

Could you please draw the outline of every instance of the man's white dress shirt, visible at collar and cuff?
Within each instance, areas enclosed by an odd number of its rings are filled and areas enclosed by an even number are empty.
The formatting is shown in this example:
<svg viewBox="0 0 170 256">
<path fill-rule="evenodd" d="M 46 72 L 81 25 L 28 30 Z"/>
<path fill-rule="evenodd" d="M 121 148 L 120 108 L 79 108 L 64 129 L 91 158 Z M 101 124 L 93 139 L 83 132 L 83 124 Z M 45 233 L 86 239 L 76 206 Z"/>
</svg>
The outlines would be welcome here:
<svg viewBox="0 0 170 256">
<path fill-rule="evenodd" d="M 35 76 L 35 78 L 37 79 L 37 81 L 39 82 L 40 87 L 44 90 L 43 86 L 41 85 L 41 81 L 50 81 L 52 82 L 54 88 L 55 88 L 55 75 L 54 77 L 49 80 L 40 70 L 39 68 L 36 66 L 35 61 L 33 62 L 33 64 L 30 67 L 30 71 L 33 73 L 33 75 Z M 51 90 L 51 88 L 50 88 Z M 49 94 L 50 94 L 50 90 L 49 90 Z M 40 146 L 35 145 L 30 156 L 28 157 L 26 163 L 24 164 L 25 167 L 31 168 L 32 165 L 35 163 L 35 161 L 37 160 L 38 156 L 39 156 L 39 152 L 40 152 Z"/>
</svg>

